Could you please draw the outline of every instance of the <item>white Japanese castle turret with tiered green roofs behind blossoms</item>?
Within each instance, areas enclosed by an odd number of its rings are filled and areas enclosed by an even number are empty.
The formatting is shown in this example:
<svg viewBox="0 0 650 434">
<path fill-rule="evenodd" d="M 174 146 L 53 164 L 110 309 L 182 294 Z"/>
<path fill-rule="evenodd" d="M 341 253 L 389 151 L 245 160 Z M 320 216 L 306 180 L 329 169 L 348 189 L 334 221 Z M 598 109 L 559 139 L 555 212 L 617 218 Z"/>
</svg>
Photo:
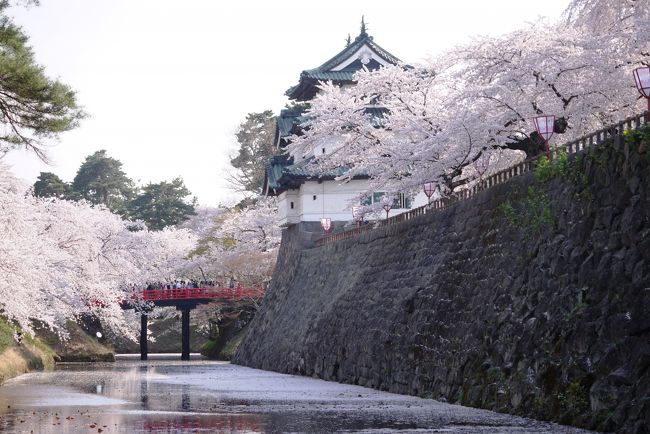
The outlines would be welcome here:
<svg viewBox="0 0 650 434">
<path fill-rule="evenodd" d="M 286 95 L 294 102 L 295 108 L 282 110 L 277 118 L 277 143 L 279 148 L 288 144 L 288 137 L 300 134 L 300 123 L 304 121 L 303 110 L 319 91 L 319 84 L 331 81 L 335 85 L 354 85 L 354 73 L 362 68 L 376 70 L 386 65 L 396 65 L 400 60 L 380 47 L 366 32 L 362 19 L 361 32 L 354 41 L 336 56 L 321 66 L 302 71 L 297 85 L 289 88 Z M 369 108 L 381 116 L 382 109 Z M 327 147 L 319 149 L 319 154 L 327 154 Z M 347 182 L 337 181 L 346 168 L 327 172 L 317 171 L 308 165 L 315 158 L 294 161 L 287 153 L 275 156 L 266 164 L 264 193 L 278 197 L 280 222 L 289 226 L 299 222 L 318 222 L 321 218 L 330 218 L 332 222 L 349 222 L 352 220 L 350 203 L 360 192 L 368 189 L 368 178 L 356 176 Z M 372 195 L 367 202 L 379 201 L 383 193 Z M 402 197 L 397 200 L 391 214 L 404 212 L 410 208 L 410 201 Z M 366 203 L 368 204 L 368 203 Z"/>
</svg>

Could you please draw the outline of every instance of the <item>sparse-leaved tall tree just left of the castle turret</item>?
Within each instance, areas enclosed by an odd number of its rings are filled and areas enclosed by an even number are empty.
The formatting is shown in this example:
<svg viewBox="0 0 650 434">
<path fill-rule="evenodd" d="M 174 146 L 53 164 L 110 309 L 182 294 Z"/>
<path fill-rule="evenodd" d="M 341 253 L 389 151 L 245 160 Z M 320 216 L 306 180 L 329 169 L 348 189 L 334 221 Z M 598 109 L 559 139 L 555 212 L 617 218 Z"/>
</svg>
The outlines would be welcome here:
<svg viewBox="0 0 650 434">
<path fill-rule="evenodd" d="M 265 164 L 275 153 L 275 116 L 271 110 L 249 113 L 239 125 L 239 150 L 230 164 L 238 171 L 229 181 L 237 191 L 259 194 L 264 185 Z"/>
</svg>

